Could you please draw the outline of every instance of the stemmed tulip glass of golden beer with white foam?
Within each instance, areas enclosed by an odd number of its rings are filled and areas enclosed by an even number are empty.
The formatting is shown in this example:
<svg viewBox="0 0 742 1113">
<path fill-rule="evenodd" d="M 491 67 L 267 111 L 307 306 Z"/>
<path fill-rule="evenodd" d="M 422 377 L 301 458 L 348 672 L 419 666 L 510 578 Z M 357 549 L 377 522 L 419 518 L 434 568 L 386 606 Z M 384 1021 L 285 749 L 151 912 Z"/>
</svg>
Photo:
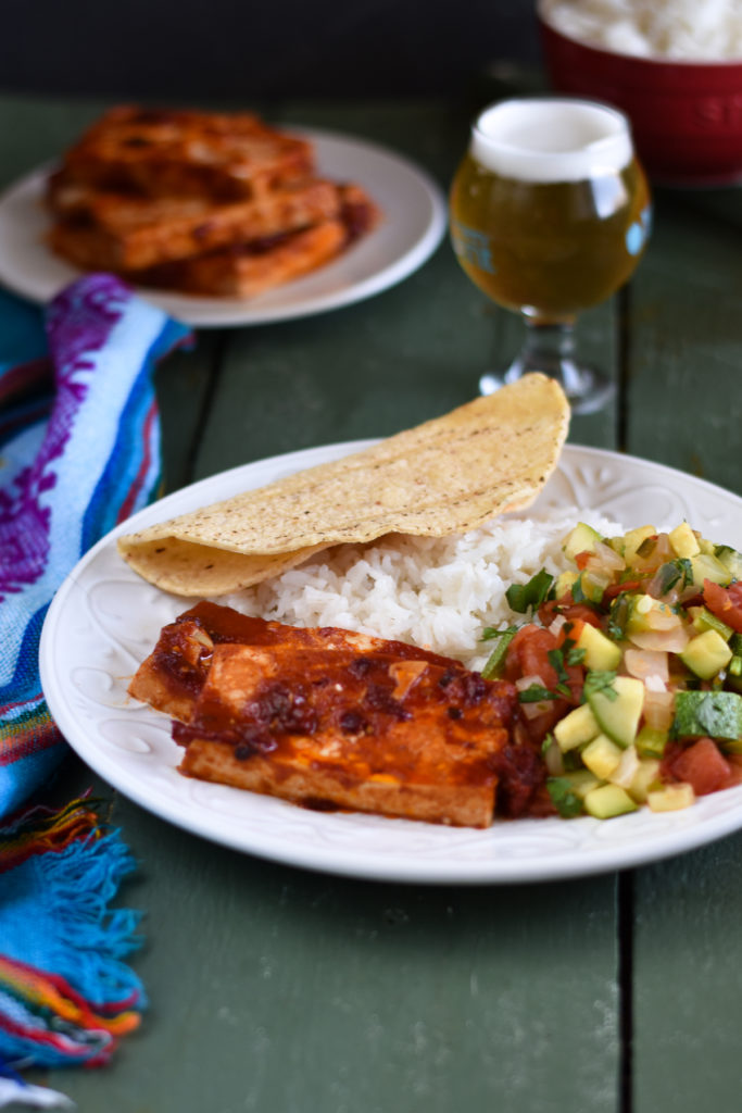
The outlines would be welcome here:
<svg viewBox="0 0 742 1113">
<path fill-rule="evenodd" d="M 528 97 L 479 115 L 451 189 L 452 242 L 468 277 L 526 324 L 523 349 L 502 374 L 483 375 L 483 394 L 541 371 L 558 380 L 573 412 L 605 403 L 613 384 L 577 362 L 575 318 L 632 275 L 650 218 L 622 112 Z"/>
</svg>

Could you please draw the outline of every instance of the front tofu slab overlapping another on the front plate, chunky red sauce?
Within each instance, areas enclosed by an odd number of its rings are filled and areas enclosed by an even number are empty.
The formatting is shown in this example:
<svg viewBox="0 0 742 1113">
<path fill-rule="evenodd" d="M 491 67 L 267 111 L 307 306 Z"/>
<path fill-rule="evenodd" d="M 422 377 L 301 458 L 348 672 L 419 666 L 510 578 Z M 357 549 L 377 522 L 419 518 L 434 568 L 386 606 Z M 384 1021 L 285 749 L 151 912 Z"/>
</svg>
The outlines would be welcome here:
<svg viewBox="0 0 742 1113">
<path fill-rule="evenodd" d="M 215 647 L 187 776 L 305 807 L 487 827 L 511 686 L 461 666 L 290 643 Z"/>
</svg>

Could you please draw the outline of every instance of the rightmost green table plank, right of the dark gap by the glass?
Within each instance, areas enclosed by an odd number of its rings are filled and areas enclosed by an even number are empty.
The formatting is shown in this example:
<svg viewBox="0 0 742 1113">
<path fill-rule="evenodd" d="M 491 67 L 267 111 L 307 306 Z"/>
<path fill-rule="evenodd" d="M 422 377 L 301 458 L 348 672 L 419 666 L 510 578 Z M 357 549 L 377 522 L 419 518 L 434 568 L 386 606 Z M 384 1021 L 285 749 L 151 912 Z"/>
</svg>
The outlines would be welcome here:
<svg viewBox="0 0 742 1113">
<path fill-rule="evenodd" d="M 739 189 L 657 190 L 632 288 L 627 449 L 742 493 Z M 723 524 L 720 535 L 723 541 Z M 636 870 L 634 1113 L 741 1105 L 742 836 Z M 672 1081 L 670 1081 L 672 1080 Z"/>
</svg>

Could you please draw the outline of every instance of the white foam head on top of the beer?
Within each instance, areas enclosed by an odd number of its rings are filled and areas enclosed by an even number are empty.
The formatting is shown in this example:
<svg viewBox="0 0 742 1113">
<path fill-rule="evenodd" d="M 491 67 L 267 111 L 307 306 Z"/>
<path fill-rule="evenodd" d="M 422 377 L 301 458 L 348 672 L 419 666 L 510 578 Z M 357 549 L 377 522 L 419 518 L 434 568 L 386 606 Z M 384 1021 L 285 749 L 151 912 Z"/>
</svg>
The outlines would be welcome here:
<svg viewBox="0 0 742 1113">
<path fill-rule="evenodd" d="M 469 152 L 494 174 L 521 181 L 583 181 L 631 162 L 629 122 L 590 100 L 532 97 L 504 100 L 482 112 Z"/>
</svg>

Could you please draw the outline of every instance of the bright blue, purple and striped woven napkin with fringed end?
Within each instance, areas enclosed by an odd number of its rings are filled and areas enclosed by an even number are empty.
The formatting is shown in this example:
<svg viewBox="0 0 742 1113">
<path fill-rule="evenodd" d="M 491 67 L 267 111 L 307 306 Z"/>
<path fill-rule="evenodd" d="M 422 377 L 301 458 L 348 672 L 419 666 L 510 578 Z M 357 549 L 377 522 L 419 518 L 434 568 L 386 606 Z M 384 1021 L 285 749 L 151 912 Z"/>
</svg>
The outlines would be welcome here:
<svg viewBox="0 0 742 1113">
<path fill-rule="evenodd" d="M 92 801 L 33 802 L 67 752 L 38 651 L 67 573 L 157 493 L 152 371 L 187 338 L 110 275 L 46 314 L 0 290 L 0 1105 L 50 1104 L 18 1072 L 106 1062 L 145 1004 L 137 915 L 109 907 L 133 868 L 119 833 Z"/>
</svg>

